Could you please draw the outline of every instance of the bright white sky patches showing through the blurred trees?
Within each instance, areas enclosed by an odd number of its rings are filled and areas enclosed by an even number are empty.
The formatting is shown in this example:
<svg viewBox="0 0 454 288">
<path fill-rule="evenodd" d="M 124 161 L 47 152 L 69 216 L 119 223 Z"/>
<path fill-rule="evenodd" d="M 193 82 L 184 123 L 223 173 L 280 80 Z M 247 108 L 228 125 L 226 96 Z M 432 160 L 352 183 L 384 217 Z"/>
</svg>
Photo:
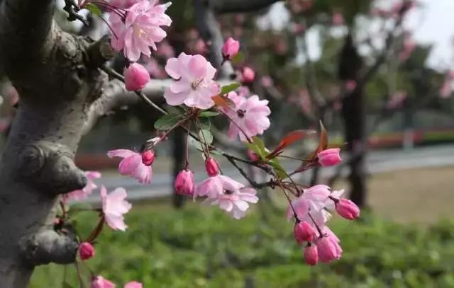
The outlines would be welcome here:
<svg viewBox="0 0 454 288">
<path fill-rule="evenodd" d="M 377 1 L 380 6 L 391 6 L 394 0 Z M 454 69 L 454 0 L 419 0 L 418 8 L 406 16 L 404 27 L 413 31 L 416 42 L 433 45 L 427 65 L 440 70 Z M 284 3 L 272 6 L 267 17 L 258 21 L 262 28 L 279 30 L 288 25 L 289 13 Z M 319 37 L 316 31 L 307 35 L 309 55 L 316 59 L 320 55 Z"/>
</svg>

